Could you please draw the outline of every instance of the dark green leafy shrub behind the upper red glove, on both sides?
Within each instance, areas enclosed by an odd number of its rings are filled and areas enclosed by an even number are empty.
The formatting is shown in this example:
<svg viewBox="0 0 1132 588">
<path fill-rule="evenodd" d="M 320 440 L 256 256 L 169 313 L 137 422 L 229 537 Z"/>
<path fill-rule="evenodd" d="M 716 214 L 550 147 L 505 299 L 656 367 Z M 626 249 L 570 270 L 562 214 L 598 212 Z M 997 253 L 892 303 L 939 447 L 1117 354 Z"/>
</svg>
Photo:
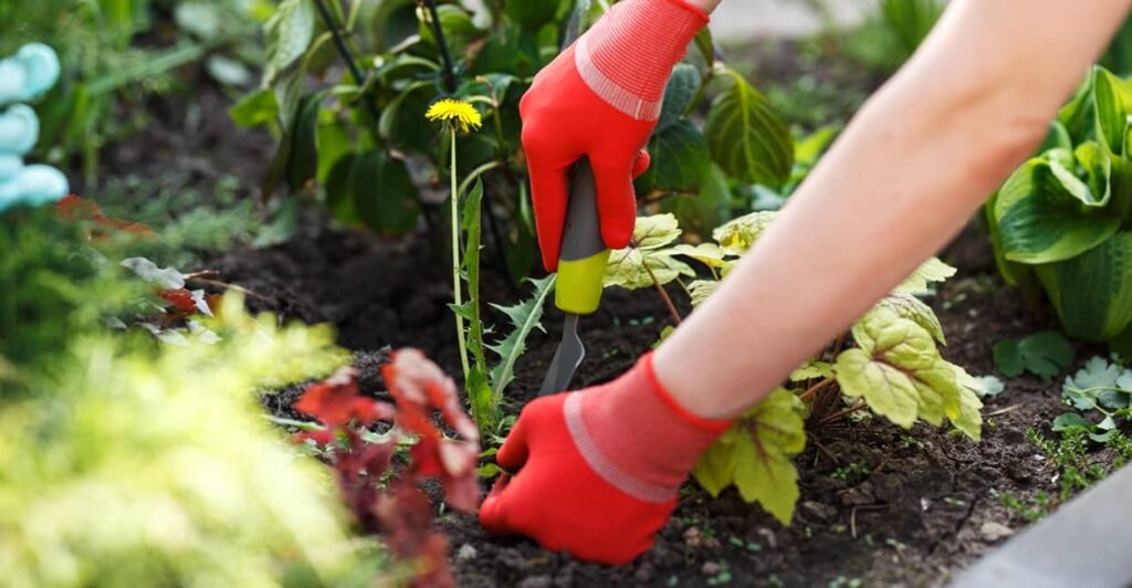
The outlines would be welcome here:
<svg viewBox="0 0 1132 588">
<path fill-rule="evenodd" d="M 349 2 L 344 9 L 323 0 L 282 2 L 267 25 L 260 88 L 232 109 L 237 122 L 267 126 L 280 138 L 265 197 L 286 184 L 317 193 L 348 224 L 403 234 L 423 213 L 438 228 L 422 188 L 452 165 L 449 146 L 419 120 L 437 100 L 464 100 L 487 131 L 458 139 L 455 173 L 482 175 L 484 242 L 513 277 L 525 277 L 534 224 L 518 100 L 558 53 L 565 28 L 586 26 L 608 6 L 563 0 L 535 8 L 506 0 L 486 8 L 486 18 L 473 19 L 458 3 Z M 789 178 L 794 152 L 784 123 L 718 58 L 710 33 L 695 47 L 674 70 L 649 142 L 653 165 L 636 188 L 644 200 L 663 199 L 681 218 L 704 218 L 710 227 L 730 209 L 728 182 L 778 187 Z M 342 77 L 329 67 L 332 53 L 348 66 Z M 331 76 L 329 87 L 307 90 L 311 75 Z"/>
</svg>

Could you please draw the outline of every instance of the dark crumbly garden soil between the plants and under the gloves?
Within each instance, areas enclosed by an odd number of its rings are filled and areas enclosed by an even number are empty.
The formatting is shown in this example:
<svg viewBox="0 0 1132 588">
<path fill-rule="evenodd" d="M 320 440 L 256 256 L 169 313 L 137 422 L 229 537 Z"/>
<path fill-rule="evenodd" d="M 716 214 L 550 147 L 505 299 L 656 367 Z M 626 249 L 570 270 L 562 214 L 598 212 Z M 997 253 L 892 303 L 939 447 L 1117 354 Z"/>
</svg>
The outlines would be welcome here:
<svg viewBox="0 0 1132 588">
<path fill-rule="evenodd" d="M 198 102 L 204 120 L 158 111 L 162 124 L 112 150 L 106 161 L 123 173 L 196 174 L 205 185 L 221 166 L 254 185 L 271 156 L 271 139 L 263 133 L 238 139 L 247 131 L 232 128 L 223 105 L 213 92 Z M 181 136 L 169 137 L 166 130 Z M 994 277 L 977 232 L 969 231 L 947 257 L 961 271 L 933 302 L 949 339 L 944 355 L 974 374 L 993 373 L 994 343 L 1048 321 L 1035 319 L 1021 296 Z M 357 353 L 362 388 L 380 394 L 377 368 L 389 347 L 419 347 L 448 373 L 460 371 L 446 306 L 451 275 L 441 260 L 424 235 L 383 240 L 303 230 L 281 245 L 218 253 L 206 267 L 250 291 L 255 310 L 333 323 L 340 343 Z M 488 271 L 484 302 L 517 300 L 498 271 Z M 508 413 L 535 394 L 557 344 L 559 319 L 549 310 L 548 332 L 531 337 L 508 391 Z M 608 292 L 601 310 L 583 321 L 589 357 L 575 384 L 624 372 L 669 320 L 651 291 Z M 498 314 L 488 322 L 503 325 Z M 712 500 L 688 484 L 657 546 L 621 568 L 577 562 L 524 539 L 487 537 L 473 517 L 444 514 L 440 526 L 449 535 L 461 586 L 936 586 L 1024 525 L 998 496 L 1056 495 L 1054 468 L 1024 433 L 1047 430 L 1062 412 L 1058 389 L 1032 378 L 1006 381 L 1006 390 L 986 401 L 984 441 L 977 444 L 946 430 L 917 425 L 904 431 L 880 418 L 811 431 L 797 460 L 801 500 L 791 527 L 734 492 Z M 291 404 L 298 394 L 298 388 L 284 390 L 265 404 L 294 417 Z"/>
</svg>

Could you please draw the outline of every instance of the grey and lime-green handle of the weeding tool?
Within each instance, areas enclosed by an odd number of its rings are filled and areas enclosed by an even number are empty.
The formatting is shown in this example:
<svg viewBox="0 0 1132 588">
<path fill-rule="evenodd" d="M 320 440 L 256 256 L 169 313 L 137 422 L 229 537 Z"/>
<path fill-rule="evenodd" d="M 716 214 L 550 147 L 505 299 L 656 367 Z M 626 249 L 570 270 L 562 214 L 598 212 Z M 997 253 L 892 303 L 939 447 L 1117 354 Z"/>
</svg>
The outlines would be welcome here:
<svg viewBox="0 0 1132 588">
<path fill-rule="evenodd" d="M 593 168 L 590 161 L 583 157 L 574 166 L 569 201 L 566 204 L 555 305 L 573 314 L 597 311 L 608 260 L 609 250 L 601 240 Z"/>
</svg>

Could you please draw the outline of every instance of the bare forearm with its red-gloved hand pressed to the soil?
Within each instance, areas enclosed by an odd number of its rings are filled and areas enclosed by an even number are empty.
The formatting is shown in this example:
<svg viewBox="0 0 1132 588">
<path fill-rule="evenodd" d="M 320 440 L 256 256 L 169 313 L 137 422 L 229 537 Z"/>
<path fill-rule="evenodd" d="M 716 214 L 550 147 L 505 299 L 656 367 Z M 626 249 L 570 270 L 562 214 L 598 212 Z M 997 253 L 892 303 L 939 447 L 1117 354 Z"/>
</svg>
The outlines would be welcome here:
<svg viewBox="0 0 1132 588">
<path fill-rule="evenodd" d="M 739 267 L 654 355 L 614 382 L 524 408 L 498 453 L 515 475 L 500 477 L 484 501 L 483 526 L 606 563 L 646 550 L 727 417 L 757 403 L 959 230 L 1041 139 L 1129 3 L 954 0 Z M 571 425 L 569 405 L 593 407 L 578 410 L 583 427 Z M 667 499 L 635 491 L 642 482 Z"/>
</svg>

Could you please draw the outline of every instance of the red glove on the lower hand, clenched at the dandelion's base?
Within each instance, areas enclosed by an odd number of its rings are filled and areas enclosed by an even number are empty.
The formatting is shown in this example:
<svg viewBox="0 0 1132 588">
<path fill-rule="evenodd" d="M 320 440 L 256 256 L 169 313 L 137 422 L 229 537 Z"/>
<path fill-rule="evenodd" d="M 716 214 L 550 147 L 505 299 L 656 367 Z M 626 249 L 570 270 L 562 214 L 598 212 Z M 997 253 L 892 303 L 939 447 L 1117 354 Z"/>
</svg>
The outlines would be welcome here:
<svg viewBox="0 0 1132 588">
<path fill-rule="evenodd" d="M 496 456 L 513 475 L 484 499 L 480 524 L 582 560 L 628 563 L 652 546 L 679 485 L 729 424 L 678 406 L 645 355 L 612 382 L 523 409 Z"/>
</svg>

